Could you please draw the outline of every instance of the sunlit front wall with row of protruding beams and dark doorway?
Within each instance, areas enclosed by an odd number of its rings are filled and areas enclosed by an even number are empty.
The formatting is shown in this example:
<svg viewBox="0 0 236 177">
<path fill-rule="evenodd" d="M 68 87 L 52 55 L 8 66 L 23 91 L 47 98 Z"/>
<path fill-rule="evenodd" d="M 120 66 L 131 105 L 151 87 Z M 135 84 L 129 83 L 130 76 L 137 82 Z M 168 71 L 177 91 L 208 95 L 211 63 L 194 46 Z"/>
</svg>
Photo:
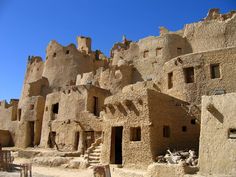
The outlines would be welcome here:
<svg viewBox="0 0 236 177">
<path fill-rule="evenodd" d="M 140 100 L 140 102 L 138 101 Z M 123 127 L 122 164 L 131 168 L 146 168 L 153 161 L 150 148 L 150 128 L 147 95 L 144 90 L 131 91 L 108 97 L 105 100 L 104 141 L 102 163 L 115 163 L 111 149 L 115 143 L 112 128 Z M 131 127 L 141 128 L 141 141 L 131 141 Z"/>
</svg>

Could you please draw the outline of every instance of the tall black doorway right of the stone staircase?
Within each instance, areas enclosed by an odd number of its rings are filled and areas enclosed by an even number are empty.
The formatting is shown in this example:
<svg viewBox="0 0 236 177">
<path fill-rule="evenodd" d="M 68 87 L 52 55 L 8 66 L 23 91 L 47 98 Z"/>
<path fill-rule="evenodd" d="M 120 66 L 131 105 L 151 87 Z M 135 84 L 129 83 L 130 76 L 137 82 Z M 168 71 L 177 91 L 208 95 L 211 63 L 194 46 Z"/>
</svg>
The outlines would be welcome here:
<svg viewBox="0 0 236 177">
<path fill-rule="evenodd" d="M 123 127 L 112 127 L 111 163 L 122 164 L 122 135 Z"/>
</svg>

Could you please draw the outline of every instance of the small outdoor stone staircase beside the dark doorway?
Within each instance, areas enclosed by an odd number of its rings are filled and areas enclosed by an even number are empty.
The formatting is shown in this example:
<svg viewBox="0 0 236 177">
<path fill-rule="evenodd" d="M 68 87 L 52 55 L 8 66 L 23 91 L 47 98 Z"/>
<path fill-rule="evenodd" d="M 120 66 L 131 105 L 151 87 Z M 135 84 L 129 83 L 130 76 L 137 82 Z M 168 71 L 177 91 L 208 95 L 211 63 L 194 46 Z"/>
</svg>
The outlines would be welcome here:
<svg viewBox="0 0 236 177">
<path fill-rule="evenodd" d="M 98 138 L 92 145 L 87 149 L 86 158 L 89 166 L 96 166 L 100 164 L 100 157 L 102 151 L 102 139 Z"/>
</svg>

